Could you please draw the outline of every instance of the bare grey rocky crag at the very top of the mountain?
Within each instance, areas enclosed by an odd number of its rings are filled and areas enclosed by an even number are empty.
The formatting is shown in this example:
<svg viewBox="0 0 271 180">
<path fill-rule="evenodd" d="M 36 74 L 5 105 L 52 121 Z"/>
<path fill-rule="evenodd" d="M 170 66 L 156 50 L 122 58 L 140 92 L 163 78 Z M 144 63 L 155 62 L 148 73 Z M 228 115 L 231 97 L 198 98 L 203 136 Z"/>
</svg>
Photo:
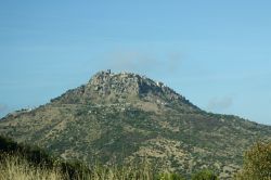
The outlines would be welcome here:
<svg viewBox="0 0 271 180">
<path fill-rule="evenodd" d="M 165 86 L 163 82 L 154 81 L 146 76 L 133 73 L 112 73 L 103 70 L 96 73 L 89 81 L 88 87 L 94 88 L 95 91 L 107 94 L 111 92 L 129 95 L 145 97 L 147 94 L 166 95 L 170 100 L 182 99 L 181 95 Z"/>
</svg>

